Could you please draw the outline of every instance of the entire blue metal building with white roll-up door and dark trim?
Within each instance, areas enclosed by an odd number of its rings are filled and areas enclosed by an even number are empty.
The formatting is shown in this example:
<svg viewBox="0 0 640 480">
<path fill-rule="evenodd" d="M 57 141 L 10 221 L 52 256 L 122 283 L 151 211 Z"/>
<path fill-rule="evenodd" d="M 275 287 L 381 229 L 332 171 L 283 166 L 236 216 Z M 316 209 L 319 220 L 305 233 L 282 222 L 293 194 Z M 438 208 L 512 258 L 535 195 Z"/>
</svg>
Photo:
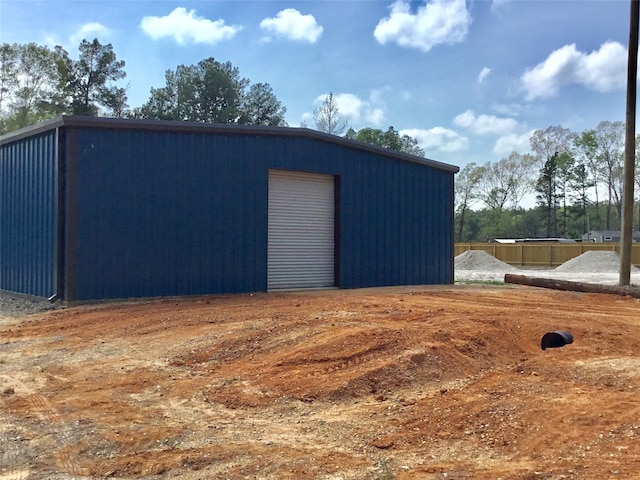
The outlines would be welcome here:
<svg viewBox="0 0 640 480">
<path fill-rule="evenodd" d="M 0 137 L 0 290 L 67 302 L 453 282 L 458 168 L 300 128 Z"/>
</svg>

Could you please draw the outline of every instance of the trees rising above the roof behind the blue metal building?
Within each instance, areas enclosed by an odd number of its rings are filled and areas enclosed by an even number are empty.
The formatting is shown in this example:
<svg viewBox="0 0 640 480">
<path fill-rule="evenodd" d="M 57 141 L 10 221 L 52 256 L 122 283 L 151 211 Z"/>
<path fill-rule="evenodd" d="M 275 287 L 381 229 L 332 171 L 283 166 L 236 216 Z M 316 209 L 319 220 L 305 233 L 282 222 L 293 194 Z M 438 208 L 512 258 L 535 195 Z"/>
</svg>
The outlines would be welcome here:
<svg viewBox="0 0 640 480">
<path fill-rule="evenodd" d="M 286 126 L 287 109 L 268 83 L 251 83 L 231 62 L 206 58 L 165 72 L 164 86 L 152 87 L 148 100 L 131 108 L 125 62 L 113 46 L 83 40 L 77 58 L 62 47 L 4 43 L 0 47 L 0 134 L 58 115 L 90 115 L 242 125 Z M 333 94 L 314 111 L 316 129 L 341 135 Z M 306 125 L 302 125 L 306 126 Z M 424 155 L 417 140 L 386 132 L 349 129 L 348 138 L 413 155 Z"/>
</svg>

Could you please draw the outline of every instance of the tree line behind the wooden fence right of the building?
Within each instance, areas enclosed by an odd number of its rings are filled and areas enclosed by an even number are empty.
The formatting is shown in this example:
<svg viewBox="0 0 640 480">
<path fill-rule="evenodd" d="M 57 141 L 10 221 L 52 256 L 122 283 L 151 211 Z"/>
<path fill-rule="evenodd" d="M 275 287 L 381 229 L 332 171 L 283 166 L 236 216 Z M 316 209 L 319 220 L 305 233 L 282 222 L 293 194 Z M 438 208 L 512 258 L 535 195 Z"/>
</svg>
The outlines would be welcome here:
<svg viewBox="0 0 640 480">
<path fill-rule="evenodd" d="M 456 241 L 577 239 L 588 230 L 619 230 L 624 137 L 620 121 L 580 133 L 550 126 L 533 132 L 531 153 L 466 165 L 455 181 Z M 638 191 L 638 167 L 634 178 Z M 523 208 L 524 199 L 533 206 Z M 634 229 L 639 225 L 640 203 Z"/>
</svg>

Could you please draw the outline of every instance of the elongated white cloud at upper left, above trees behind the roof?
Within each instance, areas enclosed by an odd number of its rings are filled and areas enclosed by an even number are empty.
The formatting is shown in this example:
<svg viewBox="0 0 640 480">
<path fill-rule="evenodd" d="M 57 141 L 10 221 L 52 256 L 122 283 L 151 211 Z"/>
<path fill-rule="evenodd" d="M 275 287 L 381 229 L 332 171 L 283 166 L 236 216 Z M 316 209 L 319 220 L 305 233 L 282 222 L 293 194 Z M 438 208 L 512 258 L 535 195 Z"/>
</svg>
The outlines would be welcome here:
<svg viewBox="0 0 640 480">
<path fill-rule="evenodd" d="M 225 25 L 222 19 L 211 21 L 196 15 L 195 10 L 187 12 L 183 7 L 176 8 L 165 17 L 144 17 L 140 27 L 154 40 L 173 37 L 180 45 L 215 45 L 223 40 L 230 40 L 242 30 L 239 25 Z"/>
</svg>

